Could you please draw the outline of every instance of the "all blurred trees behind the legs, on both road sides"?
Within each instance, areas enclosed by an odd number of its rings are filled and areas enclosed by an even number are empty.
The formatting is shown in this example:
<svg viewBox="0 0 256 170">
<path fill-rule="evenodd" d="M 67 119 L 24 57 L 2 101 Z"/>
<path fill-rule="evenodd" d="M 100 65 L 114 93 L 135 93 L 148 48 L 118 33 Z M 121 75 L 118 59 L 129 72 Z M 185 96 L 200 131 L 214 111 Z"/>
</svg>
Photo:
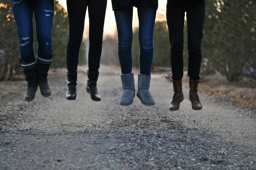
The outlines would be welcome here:
<svg viewBox="0 0 256 170">
<path fill-rule="evenodd" d="M 206 14 L 202 39 L 201 75 L 220 72 L 229 81 L 243 77 L 256 79 L 256 2 L 252 0 L 205 0 Z M 174 16 L 175 17 L 175 16 Z M 35 22 L 34 22 L 35 24 Z M 66 10 L 55 1 L 52 68 L 66 67 L 68 41 Z M 36 34 L 34 36 L 37 51 Z M 119 65 L 117 36 L 104 37 L 101 63 Z M 154 28 L 154 66 L 170 67 L 167 23 L 157 21 Z M 82 42 L 79 63 L 85 64 Z M 138 28 L 134 30 L 133 65 L 139 67 Z M 184 69 L 187 69 L 187 26 L 184 23 Z M 0 0 L 0 81 L 21 71 L 18 33 L 10 0 Z M 9 71 L 9 74 L 8 74 Z"/>
</svg>

